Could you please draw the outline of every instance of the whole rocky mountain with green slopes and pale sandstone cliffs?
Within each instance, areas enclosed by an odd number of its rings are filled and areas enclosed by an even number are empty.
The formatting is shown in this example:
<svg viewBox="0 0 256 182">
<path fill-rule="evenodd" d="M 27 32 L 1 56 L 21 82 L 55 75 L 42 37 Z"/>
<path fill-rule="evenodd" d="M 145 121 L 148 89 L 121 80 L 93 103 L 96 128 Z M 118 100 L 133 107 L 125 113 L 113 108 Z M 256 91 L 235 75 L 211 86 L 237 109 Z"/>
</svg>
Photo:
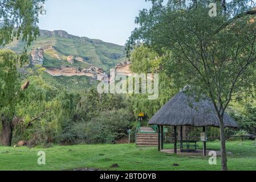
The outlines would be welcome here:
<svg viewBox="0 0 256 182">
<path fill-rule="evenodd" d="M 14 40 L 5 48 L 19 53 L 24 45 L 21 40 Z M 120 67 L 127 62 L 124 46 L 70 35 L 62 30 L 40 30 L 40 36 L 28 52 L 30 65 L 39 64 L 46 68 L 44 77 L 53 85 L 70 86 L 72 83 L 71 88 L 84 88 L 95 84 L 101 73 L 112 68 L 127 72 L 127 68 Z"/>
</svg>

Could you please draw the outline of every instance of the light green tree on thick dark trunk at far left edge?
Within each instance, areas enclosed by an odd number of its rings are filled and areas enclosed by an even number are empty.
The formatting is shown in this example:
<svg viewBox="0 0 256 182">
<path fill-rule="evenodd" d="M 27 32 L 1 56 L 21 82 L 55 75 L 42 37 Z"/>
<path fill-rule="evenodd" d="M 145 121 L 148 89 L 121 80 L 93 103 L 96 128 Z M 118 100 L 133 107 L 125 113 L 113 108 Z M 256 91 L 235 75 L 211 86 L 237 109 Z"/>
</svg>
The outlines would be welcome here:
<svg viewBox="0 0 256 182">
<path fill-rule="evenodd" d="M 14 110 L 19 99 L 21 80 L 17 69 L 18 56 L 12 51 L 0 51 L 0 121 L 2 144 L 11 145 Z"/>
</svg>

